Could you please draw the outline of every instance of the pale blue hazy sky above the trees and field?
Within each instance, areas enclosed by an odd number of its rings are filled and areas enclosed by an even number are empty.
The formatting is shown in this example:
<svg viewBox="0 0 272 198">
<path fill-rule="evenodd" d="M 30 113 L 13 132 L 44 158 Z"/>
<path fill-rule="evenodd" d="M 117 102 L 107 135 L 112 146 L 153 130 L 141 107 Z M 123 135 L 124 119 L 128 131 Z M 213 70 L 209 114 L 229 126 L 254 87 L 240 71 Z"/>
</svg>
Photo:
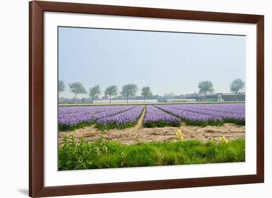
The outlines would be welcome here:
<svg viewBox="0 0 272 198">
<path fill-rule="evenodd" d="M 245 80 L 245 36 L 64 27 L 58 36 L 59 80 L 66 84 L 60 97 L 73 97 L 68 84 L 75 81 L 88 91 L 135 83 L 139 96 L 143 86 L 154 95 L 191 94 L 201 80 L 229 93 L 233 79 Z"/>
</svg>

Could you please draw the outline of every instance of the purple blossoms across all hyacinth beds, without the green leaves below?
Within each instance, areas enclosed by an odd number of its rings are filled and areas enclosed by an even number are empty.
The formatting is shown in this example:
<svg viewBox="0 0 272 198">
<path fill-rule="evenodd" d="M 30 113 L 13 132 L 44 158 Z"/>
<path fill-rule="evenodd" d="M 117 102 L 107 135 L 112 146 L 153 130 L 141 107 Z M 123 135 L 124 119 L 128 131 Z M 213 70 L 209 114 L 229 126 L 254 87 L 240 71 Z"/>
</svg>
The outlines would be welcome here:
<svg viewBox="0 0 272 198">
<path fill-rule="evenodd" d="M 76 126 L 81 123 L 97 121 L 101 125 L 115 123 L 126 125 L 134 123 L 139 117 L 144 105 L 114 105 L 114 106 L 73 106 L 59 107 L 59 126 Z M 233 119 L 245 121 L 245 104 L 169 104 L 147 105 L 143 123 L 180 123 L 177 117 L 190 122 L 223 121 Z"/>
</svg>

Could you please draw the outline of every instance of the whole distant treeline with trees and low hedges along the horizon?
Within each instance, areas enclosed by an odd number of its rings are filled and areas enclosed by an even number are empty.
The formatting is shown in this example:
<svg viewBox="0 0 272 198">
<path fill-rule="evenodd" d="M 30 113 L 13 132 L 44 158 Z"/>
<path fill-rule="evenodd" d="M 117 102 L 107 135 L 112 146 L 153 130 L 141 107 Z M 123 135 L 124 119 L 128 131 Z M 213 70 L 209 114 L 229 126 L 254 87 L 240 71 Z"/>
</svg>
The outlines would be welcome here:
<svg viewBox="0 0 272 198">
<path fill-rule="evenodd" d="M 95 85 L 86 91 L 84 85 L 81 82 L 70 83 L 69 90 L 74 94 L 73 99 L 66 99 L 61 97 L 61 93 L 65 91 L 66 85 L 63 80 L 58 81 L 58 95 L 59 103 L 92 103 L 93 100 L 123 100 L 126 99 L 127 103 L 129 99 L 158 99 L 159 102 L 164 102 L 166 99 L 184 99 L 184 95 L 175 95 L 174 93 L 165 93 L 163 96 L 153 95 L 149 86 L 142 87 L 141 97 L 136 96 L 138 86 L 134 83 L 126 84 L 122 86 L 121 91 L 118 90 L 117 85 L 109 85 L 103 91 L 99 85 Z M 229 90 L 232 93 L 237 93 L 245 88 L 245 82 L 237 78 L 230 82 Z M 204 95 L 205 101 L 207 100 L 206 94 L 215 92 L 214 85 L 211 81 L 201 81 L 198 83 L 198 93 Z M 104 94 L 102 97 L 102 93 Z M 196 92 L 195 92 L 196 93 Z M 89 98 L 78 99 L 79 94 L 88 94 Z M 100 98 L 101 97 L 101 98 Z"/>
</svg>

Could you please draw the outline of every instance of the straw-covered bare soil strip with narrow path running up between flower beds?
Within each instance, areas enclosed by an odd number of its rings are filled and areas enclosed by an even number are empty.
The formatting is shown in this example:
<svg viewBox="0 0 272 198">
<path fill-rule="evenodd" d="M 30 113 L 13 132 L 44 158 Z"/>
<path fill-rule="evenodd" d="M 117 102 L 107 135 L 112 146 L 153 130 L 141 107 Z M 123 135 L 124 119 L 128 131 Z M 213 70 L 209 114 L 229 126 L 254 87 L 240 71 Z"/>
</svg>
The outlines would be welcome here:
<svg viewBox="0 0 272 198">
<path fill-rule="evenodd" d="M 125 130 L 109 130 L 101 132 L 94 126 L 77 129 L 73 132 L 59 132 L 59 144 L 63 143 L 64 135 L 74 134 L 76 140 L 79 141 L 83 137 L 86 141 L 97 141 L 103 135 L 105 140 L 119 141 L 125 144 L 134 144 L 136 142 L 156 142 L 156 141 L 174 141 L 175 133 L 181 129 L 184 139 L 199 139 L 208 141 L 211 137 L 218 140 L 220 136 L 225 136 L 227 139 L 240 139 L 245 138 L 245 126 L 226 123 L 224 126 L 207 126 L 207 127 L 194 127 L 185 126 L 182 124 L 181 128 L 178 127 L 164 127 L 164 128 L 143 128 L 142 122 L 145 114 L 146 107 L 138 120 L 135 127 Z"/>
</svg>

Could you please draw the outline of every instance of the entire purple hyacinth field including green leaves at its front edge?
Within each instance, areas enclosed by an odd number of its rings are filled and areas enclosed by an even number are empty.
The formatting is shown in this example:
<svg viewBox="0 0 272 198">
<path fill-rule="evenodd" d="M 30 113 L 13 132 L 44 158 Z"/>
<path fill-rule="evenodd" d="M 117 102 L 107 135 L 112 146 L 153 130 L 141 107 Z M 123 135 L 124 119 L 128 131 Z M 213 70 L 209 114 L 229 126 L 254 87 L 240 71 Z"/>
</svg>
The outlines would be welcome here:
<svg viewBox="0 0 272 198">
<path fill-rule="evenodd" d="M 245 125 L 245 103 L 64 106 L 59 107 L 58 125 L 61 131 L 93 124 L 100 130 L 125 129 L 134 127 L 140 116 L 145 128 L 179 127 L 181 122 L 193 126 Z"/>
</svg>

